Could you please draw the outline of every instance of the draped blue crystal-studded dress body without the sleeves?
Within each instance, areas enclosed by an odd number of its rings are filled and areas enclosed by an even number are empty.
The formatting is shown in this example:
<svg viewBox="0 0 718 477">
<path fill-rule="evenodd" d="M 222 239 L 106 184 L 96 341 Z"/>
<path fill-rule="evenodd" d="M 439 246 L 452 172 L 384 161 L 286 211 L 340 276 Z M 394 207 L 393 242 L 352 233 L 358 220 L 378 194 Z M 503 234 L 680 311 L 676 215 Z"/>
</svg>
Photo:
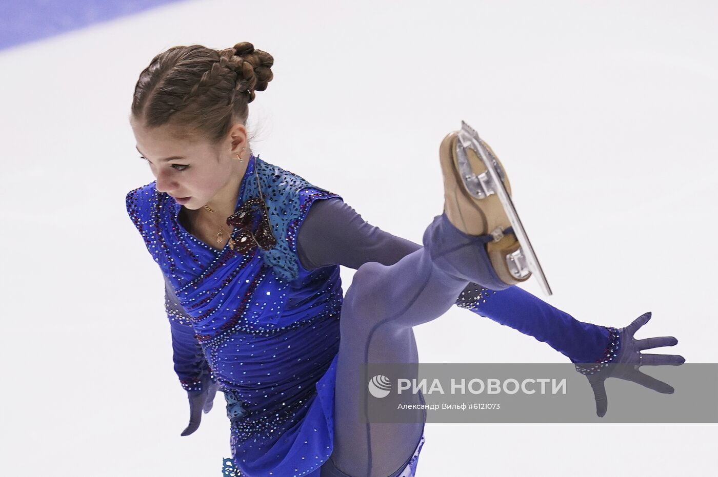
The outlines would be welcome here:
<svg viewBox="0 0 718 477">
<path fill-rule="evenodd" d="M 249 477 L 318 477 L 332 453 L 342 287 L 338 265 L 302 267 L 296 236 L 314 201 L 340 196 L 252 155 L 237 206 L 261 187 L 276 245 L 240 253 L 190 235 L 155 183 L 129 192 L 127 211 L 189 317 L 175 326 L 191 326 L 225 392 L 234 463 Z"/>
</svg>

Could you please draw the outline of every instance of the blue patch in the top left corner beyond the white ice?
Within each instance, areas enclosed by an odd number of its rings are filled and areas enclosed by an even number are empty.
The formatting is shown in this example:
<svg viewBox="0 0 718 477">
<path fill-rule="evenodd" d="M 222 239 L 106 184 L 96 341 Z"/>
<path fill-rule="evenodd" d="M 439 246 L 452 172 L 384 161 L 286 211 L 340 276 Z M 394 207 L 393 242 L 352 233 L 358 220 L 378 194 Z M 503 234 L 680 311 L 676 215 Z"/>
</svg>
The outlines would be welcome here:
<svg viewBox="0 0 718 477">
<path fill-rule="evenodd" d="M 0 0 L 0 49 L 180 0 Z"/>
</svg>

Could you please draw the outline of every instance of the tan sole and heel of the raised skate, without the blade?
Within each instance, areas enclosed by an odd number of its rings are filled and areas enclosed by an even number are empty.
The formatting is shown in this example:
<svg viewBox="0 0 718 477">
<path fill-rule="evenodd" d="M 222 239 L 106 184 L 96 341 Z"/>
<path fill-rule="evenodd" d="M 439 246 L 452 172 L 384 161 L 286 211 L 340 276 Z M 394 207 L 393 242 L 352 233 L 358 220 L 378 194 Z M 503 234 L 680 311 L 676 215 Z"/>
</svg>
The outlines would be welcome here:
<svg viewBox="0 0 718 477">
<path fill-rule="evenodd" d="M 494 241 L 486 244 L 486 253 L 496 275 L 508 285 L 524 282 L 531 277 L 531 273 L 523 278 L 515 278 L 508 268 L 506 256 L 516 252 L 521 245 L 516 239 L 516 235 L 511 232 L 503 233 L 504 230 L 511 227 L 511 223 L 504 212 L 500 199 L 496 194 L 476 199 L 467 192 L 464 186 L 456 156 L 457 137 L 458 131 L 453 131 L 444 137 L 439 146 L 439 160 L 444 175 L 444 212 L 449 222 L 467 235 L 493 235 Z M 510 195 L 511 187 L 503 164 L 500 163 L 498 156 L 494 154 L 490 146 L 484 141 L 482 143 L 494 156 L 500 169 L 503 170 L 503 184 Z M 471 148 L 467 148 L 466 151 L 473 174 L 479 175 L 486 172 L 486 166 L 476 151 Z"/>
</svg>

